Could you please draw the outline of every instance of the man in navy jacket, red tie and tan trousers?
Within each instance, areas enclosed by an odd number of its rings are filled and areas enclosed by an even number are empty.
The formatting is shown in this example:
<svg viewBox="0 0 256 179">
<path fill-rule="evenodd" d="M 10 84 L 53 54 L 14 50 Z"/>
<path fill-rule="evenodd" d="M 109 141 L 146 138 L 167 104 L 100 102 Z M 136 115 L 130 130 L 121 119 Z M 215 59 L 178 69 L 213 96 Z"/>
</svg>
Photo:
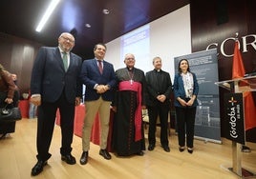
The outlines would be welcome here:
<svg viewBox="0 0 256 179">
<path fill-rule="evenodd" d="M 107 139 L 109 132 L 110 105 L 116 89 L 116 75 L 114 67 L 104 60 L 106 46 L 96 44 L 95 58 L 85 60 L 81 70 L 81 80 L 86 86 L 85 92 L 85 119 L 82 135 L 83 152 L 80 164 L 85 165 L 88 161 L 92 126 L 96 118 L 96 112 L 100 118 L 100 150 L 99 154 L 110 160 L 111 155 L 107 151 Z"/>
</svg>

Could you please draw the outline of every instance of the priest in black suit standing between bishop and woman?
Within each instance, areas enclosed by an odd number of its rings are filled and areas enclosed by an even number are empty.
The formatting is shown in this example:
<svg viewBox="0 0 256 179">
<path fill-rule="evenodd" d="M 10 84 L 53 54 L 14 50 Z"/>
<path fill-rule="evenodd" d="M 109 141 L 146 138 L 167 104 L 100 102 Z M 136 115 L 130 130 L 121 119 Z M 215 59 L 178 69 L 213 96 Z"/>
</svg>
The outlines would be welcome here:
<svg viewBox="0 0 256 179">
<path fill-rule="evenodd" d="M 172 82 L 170 74 L 161 70 L 161 59 L 153 59 L 154 70 L 146 72 L 146 82 L 148 90 L 147 109 L 149 116 L 148 150 L 155 149 L 156 146 L 156 124 L 160 117 L 160 144 L 169 152 L 168 141 L 168 113 L 170 110 L 170 96 L 172 92 Z"/>
</svg>

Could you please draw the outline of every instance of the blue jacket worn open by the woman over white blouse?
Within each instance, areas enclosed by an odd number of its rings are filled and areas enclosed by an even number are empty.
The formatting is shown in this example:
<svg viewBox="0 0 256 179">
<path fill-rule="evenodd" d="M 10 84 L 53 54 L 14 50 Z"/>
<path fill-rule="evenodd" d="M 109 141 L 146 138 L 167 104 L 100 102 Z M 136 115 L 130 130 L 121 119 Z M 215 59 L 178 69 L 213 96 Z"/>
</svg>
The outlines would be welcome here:
<svg viewBox="0 0 256 179">
<path fill-rule="evenodd" d="M 193 81 L 194 81 L 193 94 L 198 96 L 198 93 L 199 93 L 198 80 L 195 73 L 193 72 L 191 73 L 193 75 Z M 177 100 L 178 97 L 181 97 L 181 99 L 185 99 L 185 89 L 184 89 L 182 76 L 180 73 L 176 74 L 174 77 L 173 90 L 174 90 L 174 99 L 175 99 L 174 106 L 183 108 L 181 106 L 181 103 Z M 196 106 L 198 106 L 198 100 L 195 100 L 191 107 L 196 107 Z"/>
</svg>

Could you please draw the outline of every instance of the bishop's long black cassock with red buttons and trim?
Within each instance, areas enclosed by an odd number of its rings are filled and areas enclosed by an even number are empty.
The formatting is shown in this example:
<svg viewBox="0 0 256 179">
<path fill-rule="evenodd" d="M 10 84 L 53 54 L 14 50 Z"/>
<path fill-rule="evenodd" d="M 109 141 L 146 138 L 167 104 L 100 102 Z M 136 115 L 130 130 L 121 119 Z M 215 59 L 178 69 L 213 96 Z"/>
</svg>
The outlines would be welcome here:
<svg viewBox="0 0 256 179">
<path fill-rule="evenodd" d="M 141 84 L 141 104 L 145 105 L 146 82 L 144 72 L 139 69 L 128 70 L 127 68 L 117 70 L 117 81 L 139 82 Z M 128 156 L 145 150 L 144 130 L 141 123 L 141 136 L 139 141 L 135 140 L 135 113 L 138 108 L 138 92 L 134 90 L 117 90 L 114 106 L 117 106 L 113 122 L 113 146 L 117 155 Z M 141 112 L 141 111 L 140 111 Z"/>
</svg>

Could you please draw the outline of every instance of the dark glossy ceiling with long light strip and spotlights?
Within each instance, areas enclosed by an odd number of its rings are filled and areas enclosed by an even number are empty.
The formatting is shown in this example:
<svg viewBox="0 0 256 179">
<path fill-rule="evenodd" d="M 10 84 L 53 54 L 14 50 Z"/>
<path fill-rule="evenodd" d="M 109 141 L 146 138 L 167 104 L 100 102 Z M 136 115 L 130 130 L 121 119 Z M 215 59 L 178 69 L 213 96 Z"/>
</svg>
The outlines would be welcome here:
<svg viewBox="0 0 256 179">
<path fill-rule="evenodd" d="M 1 0 L 0 31 L 45 46 L 56 46 L 63 31 L 75 34 L 74 52 L 93 57 L 96 43 L 152 22 L 189 4 L 189 0 L 60 0 L 41 32 L 35 31 L 51 0 Z M 109 10 L 109 14 L 102 11 Z M 91 28 L 86 28 L 90 24 Z"/>
</svg>

